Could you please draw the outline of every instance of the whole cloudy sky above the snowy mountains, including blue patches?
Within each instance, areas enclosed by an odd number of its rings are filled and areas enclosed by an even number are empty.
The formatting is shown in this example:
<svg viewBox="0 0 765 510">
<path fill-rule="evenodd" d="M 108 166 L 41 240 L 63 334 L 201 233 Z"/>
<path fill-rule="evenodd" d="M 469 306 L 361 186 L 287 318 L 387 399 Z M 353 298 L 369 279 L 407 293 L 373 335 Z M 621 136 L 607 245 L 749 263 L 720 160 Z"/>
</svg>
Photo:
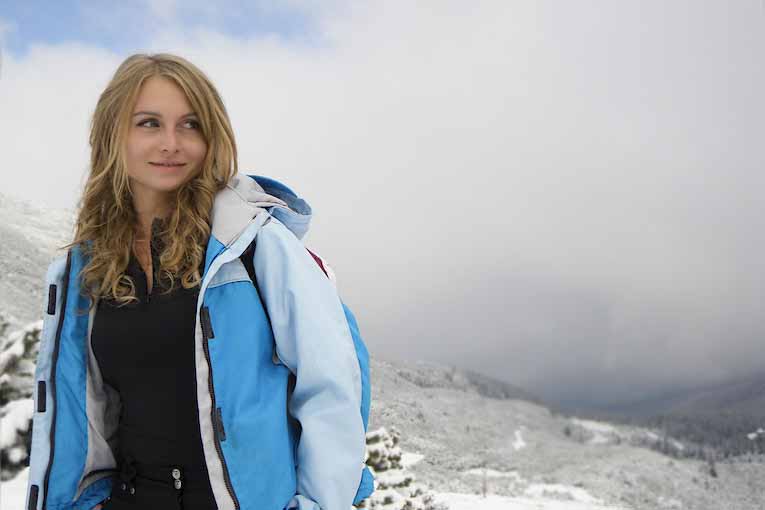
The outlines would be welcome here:
<svg viewBox="0 0 765 510">
<path fill-rule="evenodd" d="M 98 94 L 170 51 L 372 356 L 595 404 L 765 371 L 761 0 L 224 3 L 4 4 L 0 191 L 74 207 Z"/>
</svg>

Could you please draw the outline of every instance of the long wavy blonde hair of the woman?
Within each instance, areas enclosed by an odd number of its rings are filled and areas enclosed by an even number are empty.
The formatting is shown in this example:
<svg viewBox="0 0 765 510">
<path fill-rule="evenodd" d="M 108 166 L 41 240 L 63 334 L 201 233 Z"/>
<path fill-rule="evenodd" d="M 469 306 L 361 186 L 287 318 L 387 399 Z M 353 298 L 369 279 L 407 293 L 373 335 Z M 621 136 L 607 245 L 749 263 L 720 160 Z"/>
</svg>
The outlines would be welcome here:
<svg viewBox="0 0 765 510">
<path fill-rule="evenodd" d="M 175 193 L 171 214 L 154 229 L 163 247 L 160 282 L 165 293 L 176 280 L 184 288 L 201 282 L 199 267 L 210 236 L 215 194 L 238 172 L 231 122 L 217 90 L 191 62 L 168 53 L 135 54 L 117 68 L 101 93 L 90 125 L 90 173 L 78 203 L 74 239 L 87 258 L 80 272 L 91 299 L 111 298 L 119 306 L 137 301 L 135 282 L 125 274 L 136 237 L 138 216 L 130 191 L 125 143 L 132 110 L 143 82 L 169 78 L 186 94 L 207 143 L 201 169 Z M 159 226 L 157 224 L 155 227 Z"/>
</svg>

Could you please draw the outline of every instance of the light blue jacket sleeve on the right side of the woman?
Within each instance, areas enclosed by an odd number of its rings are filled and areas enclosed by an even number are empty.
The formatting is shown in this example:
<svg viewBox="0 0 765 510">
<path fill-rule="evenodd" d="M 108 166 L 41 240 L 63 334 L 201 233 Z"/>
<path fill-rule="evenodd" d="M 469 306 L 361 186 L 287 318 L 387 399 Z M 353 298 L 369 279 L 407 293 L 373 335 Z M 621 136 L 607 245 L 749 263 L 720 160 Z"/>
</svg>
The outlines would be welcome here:
<svg viewBox="0 0 765 510">
<path fill-rule="evenodd" d="M 303 243 L 276 218 L 258 233 L 253 266 L 280 360 L 295 374 L 297 494 L 288 507 L 348 510 L 366 437 L 361 373 L 340 297 Z"/>
</svg>

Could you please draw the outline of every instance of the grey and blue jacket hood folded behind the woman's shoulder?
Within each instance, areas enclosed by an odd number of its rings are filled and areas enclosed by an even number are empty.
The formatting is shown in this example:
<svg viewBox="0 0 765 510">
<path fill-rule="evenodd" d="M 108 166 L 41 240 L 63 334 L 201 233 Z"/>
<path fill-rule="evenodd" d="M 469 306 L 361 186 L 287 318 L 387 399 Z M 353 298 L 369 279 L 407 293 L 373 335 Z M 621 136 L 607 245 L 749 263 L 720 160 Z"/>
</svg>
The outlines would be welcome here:
<svg viewBox="0 0 765 510">
<path fill-rule="evenodd" d="M 237 173 L 213 202 L 212 235 L 230 246 L 264 209 L 284 223 L 298 239 L 308 232 L 311 206 L 285 184 L 261 175 Z"/>
</svg>

